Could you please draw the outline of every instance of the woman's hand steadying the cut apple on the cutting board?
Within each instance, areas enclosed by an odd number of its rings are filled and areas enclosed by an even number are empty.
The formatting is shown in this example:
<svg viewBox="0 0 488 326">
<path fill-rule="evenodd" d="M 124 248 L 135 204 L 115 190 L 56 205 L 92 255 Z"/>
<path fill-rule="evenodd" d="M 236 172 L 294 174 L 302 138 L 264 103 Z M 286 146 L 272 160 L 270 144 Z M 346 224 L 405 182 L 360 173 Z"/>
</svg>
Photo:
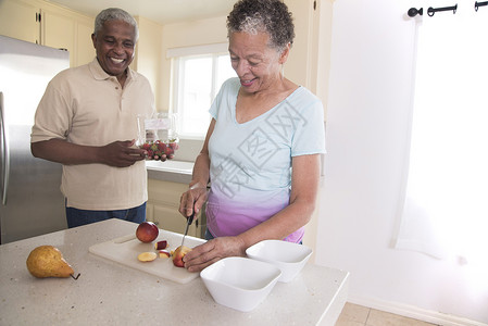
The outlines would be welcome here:
<svg viewBox="0 0 488 326">
<path fill-rule="evenodd" d="M 188 272 L 200 272 L 226 256 L 245 255 L 245 243 L 238 237 L 220 237 L 195 247 L 183 261 Z"/>
</svg>

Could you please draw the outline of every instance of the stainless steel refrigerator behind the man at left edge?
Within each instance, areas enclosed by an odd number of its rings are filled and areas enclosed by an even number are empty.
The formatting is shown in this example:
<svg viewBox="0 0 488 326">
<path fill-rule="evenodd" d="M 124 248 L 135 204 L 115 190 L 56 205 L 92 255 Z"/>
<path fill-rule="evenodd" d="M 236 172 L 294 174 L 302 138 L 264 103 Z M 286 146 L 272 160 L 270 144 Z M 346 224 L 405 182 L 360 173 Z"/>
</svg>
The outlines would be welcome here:
<svg viewBox="0 0 488 326">
<path fill-rule="evenodd" d="M 34 115 L 66 51 L 0 36 L 0 243 L 66 228 L 61 164 L 30 153 Z"/>
</svg>

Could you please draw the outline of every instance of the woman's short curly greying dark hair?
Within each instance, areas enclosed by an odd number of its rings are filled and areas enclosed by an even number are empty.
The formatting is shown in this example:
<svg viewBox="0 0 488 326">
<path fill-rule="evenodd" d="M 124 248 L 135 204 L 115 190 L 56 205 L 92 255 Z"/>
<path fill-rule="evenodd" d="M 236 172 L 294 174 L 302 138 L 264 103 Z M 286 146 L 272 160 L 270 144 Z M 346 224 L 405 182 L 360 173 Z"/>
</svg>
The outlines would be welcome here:
<svg viewBox="0 0 488 326">
<path fill-rule="evenodd" d="M 281 0 L 239 0 L 227 16 L 228 36 L 237 32 L 266 33 L 270 47 L 283 51 L 293 43 L 293 18 Z"/>
</svg>

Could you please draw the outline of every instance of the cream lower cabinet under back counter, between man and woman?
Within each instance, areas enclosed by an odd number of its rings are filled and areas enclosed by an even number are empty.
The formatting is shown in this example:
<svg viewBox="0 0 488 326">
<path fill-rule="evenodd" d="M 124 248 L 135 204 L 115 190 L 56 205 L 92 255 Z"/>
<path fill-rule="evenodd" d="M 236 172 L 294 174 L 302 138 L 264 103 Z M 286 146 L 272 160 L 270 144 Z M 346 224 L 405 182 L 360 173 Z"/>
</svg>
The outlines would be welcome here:
<svg viewBox="0 0 488 326">
<path fill-rule="evenodd" d="M 187 184 L 148 179 L 148 202 L 146 218 L 154 222 L 159 228 L 174 233 L 184 233 L 186 220 L 178 212 L 179 198 L 188 190 Z M 195 218 L 188 229 L 188 235 L 203 238 L 205 228 L 201 222 L 201 214 Z"/>
</svg>

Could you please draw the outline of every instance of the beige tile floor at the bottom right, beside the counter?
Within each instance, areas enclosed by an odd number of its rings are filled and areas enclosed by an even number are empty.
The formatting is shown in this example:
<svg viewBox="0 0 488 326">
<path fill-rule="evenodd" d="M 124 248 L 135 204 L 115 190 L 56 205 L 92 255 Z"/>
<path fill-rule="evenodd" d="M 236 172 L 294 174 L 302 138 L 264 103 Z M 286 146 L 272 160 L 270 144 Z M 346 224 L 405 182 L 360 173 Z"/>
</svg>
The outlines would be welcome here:
<svg viewBox="0 0 488 326">
<path fill-rule="evenodd" d="M 336 326 L 433 326 L 384 311 L 347 302 Z"/>
</svg>

